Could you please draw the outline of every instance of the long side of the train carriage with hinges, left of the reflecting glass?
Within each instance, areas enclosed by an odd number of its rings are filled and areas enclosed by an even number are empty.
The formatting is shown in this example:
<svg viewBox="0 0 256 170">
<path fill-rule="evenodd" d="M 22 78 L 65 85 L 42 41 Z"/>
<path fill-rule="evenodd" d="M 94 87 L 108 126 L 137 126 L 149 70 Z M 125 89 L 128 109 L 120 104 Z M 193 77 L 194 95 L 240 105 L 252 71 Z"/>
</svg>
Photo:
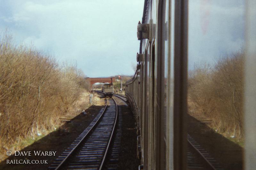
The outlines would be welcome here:
<svg viewBox="0 0 256 170">
<path fill-rule="evenodd" d="M 184 3 L 181 1 L 180 3 Z M 175 4 L 177 7 L 180 3 Z M 136 125 L 137 125 L 137 154 L 141 159 L 142 169 L 183 169 L 186 165 L 184 162 L 185 146 L 185 126 L 183 122 L 174 121 L 174 119 L 183 119 L 186 110 L 186 95 L 180 95 L 180 92 L 186 92 L 186 74 L 177 77 L 176 96 L 179 102 L 176 102 L 176 108 L 183 107 L 183 110 L 176 109 L 174 113 L 173 94 L 167 93 L 174 91 L 173 75 L 174 72 L 174 56 L 170 55 L 170 48 L 174 48 L 174 44 L 170 42 L 170 22 L 174 22 L 173 18 L 169 18 L 169 9 L 174 8 L 174 4 L 169 1 L 145 1 L 143 18 L 141 24 L 138 24 L 138 39 L 140 40 L 140 53 L 137 55 L 137 70 L 134 77 L 126 82 L 125 95 L 132 107 Z M 179 6 L 178 8 L 186 8 Z M 186 11 L 180 9 L 181 11 Z M 186 23 L 184 13 L 175 14 L 180 18 L 181 23 Z M 172 27 L 174 29 L 174 27 Z M 145 30 L 146 33 L 144 33 Z M 177 73 L 186 70 L 186 26 L 178 29 L 175 39 L 179 43 L 184 44 L 181 52 L 179 51 L 176 59 Z M 144 37 L 146 34 L 146 37 Z M 139 37 L 141 36 L 141 37 Z M 172 45 L 172 46 L 171 46 Z M 186 73 L 186 71 L 184 71 Z M 184 90 L 185 89 L 185 90 Z M 168 114 L 167 114 L 168 113 Z M 176 117 L 174 117 L 175 115 Z M 168 123 L 166 123 L 169 121 Z M 166 135 L 168 133 L 168 135 Z M 175 134 L 175 138 L 174 138 Z M 173 150 L 173 142 L 177 143 L 178 150 Z M 176 155 L 176 157 L 174 156 Z"/>
</svg>

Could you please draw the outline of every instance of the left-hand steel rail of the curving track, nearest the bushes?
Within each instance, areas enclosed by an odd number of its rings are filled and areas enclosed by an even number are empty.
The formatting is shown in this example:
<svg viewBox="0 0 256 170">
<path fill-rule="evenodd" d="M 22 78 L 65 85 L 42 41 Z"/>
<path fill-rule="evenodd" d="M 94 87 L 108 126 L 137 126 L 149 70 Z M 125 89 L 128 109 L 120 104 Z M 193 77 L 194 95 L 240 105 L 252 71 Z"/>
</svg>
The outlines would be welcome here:
<svg viewBox="0 0 256 170">
<path fill-rule="evenodd" d="M 92 131 L 92 129 L 94 129 L 94 127 L 98 124 L 98 122 L 100 121 L 101 117 L 104 115 L 104 112 L 106 110 L 108 106 L 108 101 L 106 99 L 106 106 L 102 112 L 102 114 L 100 115 L 99 119 L 94 123 L 94 125 L 92 126 L 92 128 L 84 135 L 84 137 L 78 142 L 78 144 L 76 144 L 76 146 L 68 153 L 68 155 L 66 156 L 65 159 L 63 159 L 61 161 L 61 163 L 54 169 L 54 170 L 59 170 L 63 165 L 64 163 L 68 160 L 68 158 L 70 157 L 70 155 L 76 150 L 76 148 L 83 142 L 83 140 L 89 135 L 89 133 Z"/>
</svg>

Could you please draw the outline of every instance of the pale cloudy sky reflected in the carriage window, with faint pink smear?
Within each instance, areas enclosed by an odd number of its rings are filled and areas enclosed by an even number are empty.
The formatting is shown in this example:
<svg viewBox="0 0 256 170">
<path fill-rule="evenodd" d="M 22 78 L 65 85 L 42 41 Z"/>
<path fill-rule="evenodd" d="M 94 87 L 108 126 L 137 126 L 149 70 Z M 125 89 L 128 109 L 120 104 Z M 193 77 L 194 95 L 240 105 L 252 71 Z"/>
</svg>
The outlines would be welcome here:
<svg viewBox="0 0 256 170">
<path fill-rule="evenodd" d="M 243 0 L 191 0 L 188 17 L 188 68 L 194 63 L 238 52 L 244 46 Z"/>
</svg>

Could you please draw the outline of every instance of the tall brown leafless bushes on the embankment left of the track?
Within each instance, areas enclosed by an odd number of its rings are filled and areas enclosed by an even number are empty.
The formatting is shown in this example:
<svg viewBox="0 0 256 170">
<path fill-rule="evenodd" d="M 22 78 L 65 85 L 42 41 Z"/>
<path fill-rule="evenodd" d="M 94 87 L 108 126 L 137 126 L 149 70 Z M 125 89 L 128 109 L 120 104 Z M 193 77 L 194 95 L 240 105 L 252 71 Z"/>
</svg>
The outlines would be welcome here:
<svg viewBox="0 0 256 170">
<path fill-rule="evenodd" d="M 51 55 L 14 46 L 11 36 L 1 35 L 0 151 L 55 129 L 60 116 L 75 112 L 74 104 L 89 86 L 73 65 L 60 67 Z"/>
</svg>

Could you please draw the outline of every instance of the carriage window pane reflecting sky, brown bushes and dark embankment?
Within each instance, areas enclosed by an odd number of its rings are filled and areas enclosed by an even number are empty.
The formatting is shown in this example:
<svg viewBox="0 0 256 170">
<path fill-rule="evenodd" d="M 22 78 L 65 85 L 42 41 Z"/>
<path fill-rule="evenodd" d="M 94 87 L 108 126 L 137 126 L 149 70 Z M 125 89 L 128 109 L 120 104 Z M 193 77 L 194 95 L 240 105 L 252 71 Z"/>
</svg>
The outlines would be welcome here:
<svg viewBox="0 0 256 170">
<path fill-rule="evenodd" d="M 223 169 L 242 169 L 244 1 L 188 9 L 188 134 Z"/>
</svg>

